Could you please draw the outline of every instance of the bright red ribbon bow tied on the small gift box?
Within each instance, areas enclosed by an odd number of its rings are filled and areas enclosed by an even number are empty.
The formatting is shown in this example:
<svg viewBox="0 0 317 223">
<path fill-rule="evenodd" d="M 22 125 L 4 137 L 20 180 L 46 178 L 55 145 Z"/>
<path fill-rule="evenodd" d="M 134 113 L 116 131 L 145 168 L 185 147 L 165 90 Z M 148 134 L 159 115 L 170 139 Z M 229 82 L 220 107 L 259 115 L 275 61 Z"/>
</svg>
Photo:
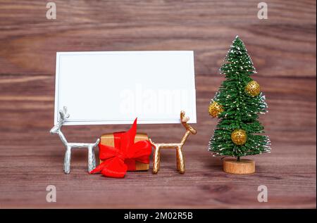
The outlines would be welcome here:
<svg viewBox="0 0 317 223">
<path fill-rule="evenodd" d="M 135 170 L 135 161 L 149 163 L 151 144 L 148 140 L 135 143 L 137 133 L 137 118 L 127 132 L 115 132 L 115 147 L 99 143 L 99 158 L 103 160 L 90 173 L 101 172 L 106 177 L 125 177 L 128 170 Z"/>
</svg>

